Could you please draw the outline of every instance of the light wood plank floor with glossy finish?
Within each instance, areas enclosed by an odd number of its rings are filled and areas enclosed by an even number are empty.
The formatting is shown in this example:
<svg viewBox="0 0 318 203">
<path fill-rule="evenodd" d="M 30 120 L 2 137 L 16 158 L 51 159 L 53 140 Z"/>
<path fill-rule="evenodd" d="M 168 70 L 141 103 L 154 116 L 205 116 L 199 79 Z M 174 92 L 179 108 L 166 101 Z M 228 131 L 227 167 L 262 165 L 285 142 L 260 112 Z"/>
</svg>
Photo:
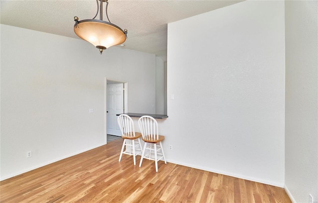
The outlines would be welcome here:
<svg viewBox="0 0 318 203">
<path fill-rule="evenodd" d="M 123 155 L 122 139 L 0 182 L 1 203 L 291 203 L 282 188 Z M 137 163 L 140 156 L 137 157 Z"/>
</svg>

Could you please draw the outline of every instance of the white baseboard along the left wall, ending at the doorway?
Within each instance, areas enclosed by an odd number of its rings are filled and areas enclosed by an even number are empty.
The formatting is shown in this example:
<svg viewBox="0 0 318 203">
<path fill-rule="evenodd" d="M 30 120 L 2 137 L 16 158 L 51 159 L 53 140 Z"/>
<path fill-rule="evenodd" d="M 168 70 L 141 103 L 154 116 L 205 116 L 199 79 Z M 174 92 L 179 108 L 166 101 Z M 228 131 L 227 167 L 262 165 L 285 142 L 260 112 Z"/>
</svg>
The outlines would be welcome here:
<svg viewBox="0 0 318 203">
<path fill-rule="evenodd" d="M 57 159 L 53 159 L 53 160 L 50 160 L 50 161 L 48 161 L 48 162 L 41 163 L 41 164 L 39 164 L 39 165 L 30 167 L 30 168 L 27 168 L 27 169 L 24 169 L 24 170 L 21 170 L 21 171 L 18 171 L 18 172 L 15 172 L 15 173 L 12 173 L 12 174 L 9 174 L 9 175 L 6 175 L 6 176 L 1 176 L 1 177 L 0 177 L 0 181 L 3 181 L 3 180 L 8 179 L 8 178 L 12 178 L 12 177 L 17 176 L 17 175 L 20 175 L 20 174 L 22 174 L 22 173 L 26 173 L 26 172 L 32 171 L 32 170 L 34 170 L 34 169 L 37 169 L 37 168 L 40 168 L 40 167 L 42 167 L 42 166 L 46 166 L 46 165 L 48 165 L 48 164 L 51 164 L 51 163 L 60 161 L 60 160 L 62 160 L 62 159 L 69 158 L 69 157 L 71 157 L 71 156 L 74 156 L 74 155 L 83 153 L 83 152 L 85 152 L 85 151 L 88 151 L 88 150 L 91 150 L 91 149 L 100 147 L 100 146 L 102 146 L 102 145 L 105 145 L 105 143 L 101 143 L 101 144 L 98 144 L 98 145 L 96 145 L 96 146 L 93 146 L 93 147 L 90 147 L 90 148 L 87 148 L 87 149 L 83 149 L 83 150 L 80 150 L 80 151 L 78 151 L 78 152 L 75 152 L 75 153 L 72 153 L 72 154 L 69 154 L 69 155 L 66 155 L 66 156 L 62 156 L 62 157 L 57 158 Z"/>
</svg>

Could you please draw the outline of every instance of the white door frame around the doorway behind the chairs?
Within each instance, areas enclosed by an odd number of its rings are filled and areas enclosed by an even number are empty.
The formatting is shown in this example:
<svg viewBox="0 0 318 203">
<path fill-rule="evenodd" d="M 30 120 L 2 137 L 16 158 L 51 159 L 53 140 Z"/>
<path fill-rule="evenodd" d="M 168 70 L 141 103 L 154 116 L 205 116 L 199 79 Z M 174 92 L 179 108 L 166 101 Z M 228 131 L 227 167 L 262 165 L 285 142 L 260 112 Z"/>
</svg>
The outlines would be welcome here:
<svg viewBox="0 0 318 203">
<path fill-rule="evenodd" d="M 118 80 L 114 80 L 114 79 L 109 79 L 107 77 L 105 77 L 105 81 L 104 81 L 104 129 L 105 129 L 105 144 L 107 144 L 107 81 L 111 82 L 112 84 L 118 84 L 118 83 L 122 83 L 124 84 L 124 107 L 125 110 L 124 112 L 127 113 L 128 112 L 128 82 L 125 81 L 118 81 Z"/>
</svg>

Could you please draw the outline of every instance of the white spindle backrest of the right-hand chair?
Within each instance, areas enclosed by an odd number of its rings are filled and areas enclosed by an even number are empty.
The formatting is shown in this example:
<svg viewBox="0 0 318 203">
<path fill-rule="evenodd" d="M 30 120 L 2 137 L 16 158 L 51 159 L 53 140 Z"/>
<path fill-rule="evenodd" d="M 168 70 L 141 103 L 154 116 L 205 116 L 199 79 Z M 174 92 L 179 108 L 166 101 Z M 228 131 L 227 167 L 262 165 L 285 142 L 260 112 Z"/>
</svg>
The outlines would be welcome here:
<svg viewBox="0 0 318 203">
<path fill-rule="evenodd" d="M 141 131 L 141 135 L 144 139 L 157 140 L 159 139 L 158 134 L 158 123 L 156 119 L 151 116 L 142 116 L 138 120 L 138 125 Z"/>
</svg>

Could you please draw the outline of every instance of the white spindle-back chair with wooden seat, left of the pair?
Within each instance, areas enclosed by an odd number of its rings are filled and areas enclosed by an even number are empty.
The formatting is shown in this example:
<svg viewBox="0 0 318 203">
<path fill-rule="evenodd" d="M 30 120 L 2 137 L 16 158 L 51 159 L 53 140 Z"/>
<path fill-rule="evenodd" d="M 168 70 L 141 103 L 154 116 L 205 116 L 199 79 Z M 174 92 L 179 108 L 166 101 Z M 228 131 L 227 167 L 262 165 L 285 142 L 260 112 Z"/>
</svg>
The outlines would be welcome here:
<svg viewBox="0 0 318 203">
<path fill-rule="evenodd" d="M 123 154 L 133 155 L 134 165 L 136 165 L 136 155 L 142 153 L 142 148 L 141 148 L 142 145 L 139 138 L 141 137 L 141 133 L 135 132 L 134 122 L 132 118 L 130 118 L 130 116 L 126 114 L 121 114 L 118 116 L 117 121 L 118 121 L 118 125 L 122 134 L 121 136 L 124 139 L 118 161 L 121 160 L 121 157 Z"/>
</svg>

